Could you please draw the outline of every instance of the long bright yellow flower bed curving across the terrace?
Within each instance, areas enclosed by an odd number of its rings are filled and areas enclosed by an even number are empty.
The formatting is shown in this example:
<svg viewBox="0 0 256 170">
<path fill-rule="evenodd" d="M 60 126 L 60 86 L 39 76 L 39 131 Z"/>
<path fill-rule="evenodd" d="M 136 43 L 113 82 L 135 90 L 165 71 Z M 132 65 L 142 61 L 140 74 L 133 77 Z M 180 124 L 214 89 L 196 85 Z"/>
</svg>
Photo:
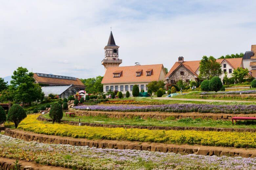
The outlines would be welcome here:
<svg viewBox="0 0 256 170">
<path fill-rule="evenodd" d="M 79 127 L 67 124 L 41 122 L 36 120 L 37 116 L 38 114 L 28 115 L 27 118 L 19 124 L 18 128 L 39 134 L 69 136 L 73 138 L 256 148 L 256 133 L 251 132 Z"/>
</svg>

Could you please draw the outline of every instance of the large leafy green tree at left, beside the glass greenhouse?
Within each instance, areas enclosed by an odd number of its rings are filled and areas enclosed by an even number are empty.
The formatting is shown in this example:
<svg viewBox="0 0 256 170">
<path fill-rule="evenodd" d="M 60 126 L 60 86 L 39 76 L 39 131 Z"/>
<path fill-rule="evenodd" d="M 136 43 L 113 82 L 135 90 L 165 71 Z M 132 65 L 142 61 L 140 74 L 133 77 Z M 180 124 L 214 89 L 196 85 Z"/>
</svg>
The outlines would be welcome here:
<svg viewBox="0 0 256 170">
<path fill-rule="evenodd" d="M 34 84 L 33 73 L 28 73 L 27 68 L 18 67 L 11 76 L 11 91 L 16 102 L 31 105 L 32 101 L 42 99 L 42 89 L 38 84 Z"/>
</svg>

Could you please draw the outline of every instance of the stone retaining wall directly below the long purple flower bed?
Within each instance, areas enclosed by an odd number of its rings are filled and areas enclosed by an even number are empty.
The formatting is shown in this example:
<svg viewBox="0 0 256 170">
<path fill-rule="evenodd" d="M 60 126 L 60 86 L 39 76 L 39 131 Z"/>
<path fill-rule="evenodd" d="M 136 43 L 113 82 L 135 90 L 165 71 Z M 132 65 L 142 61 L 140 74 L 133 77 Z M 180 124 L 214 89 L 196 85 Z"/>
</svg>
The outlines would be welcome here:
<svg viewBox="0 0 256 170">
<path fill-rule="evenodd" d="M 186 117 L 191 117 L 192 119 L 202 118 L 202 119 L 213 119 L 213 120 L 231 120 L 234 116 L 247 116 L 255 117 L 256 114 L 226 114 L 226 113 L 169 113 L 169 112 L 117 112 L 117 111 L 87 111 L 87 110 L 69 110 L 69 112 L 74 112 L 76 116 L 107 116 L 110 118 L 133 118 L 140 116 L 143 119 L 165 119 L 170 116 L 174 116 L 176 120 Z"/>
</svg>

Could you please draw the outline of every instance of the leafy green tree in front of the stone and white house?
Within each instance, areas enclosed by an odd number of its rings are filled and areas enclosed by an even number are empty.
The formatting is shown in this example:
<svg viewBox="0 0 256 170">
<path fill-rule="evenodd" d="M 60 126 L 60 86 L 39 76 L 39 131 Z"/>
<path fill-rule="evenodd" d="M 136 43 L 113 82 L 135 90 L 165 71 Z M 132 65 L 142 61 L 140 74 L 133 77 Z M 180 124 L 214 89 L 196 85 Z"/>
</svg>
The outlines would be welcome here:
<svg viewBox="0 0 256 170">
<path fill-rule="evenodd" d="M 199 79 L 209 80 L 214 76 L 220 76 L 222 74 L 221 64 L 212 56 L 209 58 L 203 56 L 203 59 L 200 61 L 199 71 Z"/>
</svg>

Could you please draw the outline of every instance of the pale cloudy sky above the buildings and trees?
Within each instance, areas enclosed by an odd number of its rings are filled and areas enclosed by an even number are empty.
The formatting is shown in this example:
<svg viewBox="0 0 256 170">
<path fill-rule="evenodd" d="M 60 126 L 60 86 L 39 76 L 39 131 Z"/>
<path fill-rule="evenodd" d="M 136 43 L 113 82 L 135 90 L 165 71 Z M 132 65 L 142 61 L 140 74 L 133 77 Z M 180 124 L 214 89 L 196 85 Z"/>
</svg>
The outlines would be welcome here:
<svg viewBox="0 0 256 170">
<path fill-rule="evenodd" d="M 256 44 L 256 1 L 0 0 L 0 77 L 17 67 L 89 78 L 112 26 L 120 66 L 200 60 L 250 51 Z"/>
</svg>

